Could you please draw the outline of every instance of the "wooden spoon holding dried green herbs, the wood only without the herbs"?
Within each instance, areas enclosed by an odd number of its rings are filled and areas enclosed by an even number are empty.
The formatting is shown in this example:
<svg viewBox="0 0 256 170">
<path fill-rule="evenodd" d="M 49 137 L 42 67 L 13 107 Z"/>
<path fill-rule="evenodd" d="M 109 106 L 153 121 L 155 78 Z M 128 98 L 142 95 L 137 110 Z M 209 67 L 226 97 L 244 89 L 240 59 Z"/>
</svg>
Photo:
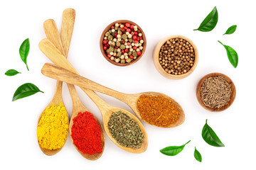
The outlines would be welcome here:
<svg viewBox="0 0 256 170">
<path fill-rule="evenodd" d="M 73 68 L 73 66 L 68 62 L 68 60 L 60 59 L 60 57 L 63 57 L 63 55 L 61 55 L 60 50 L 56 49 L 56 47 L 53 45 L 53 43 L 50 42 L 48 39 L 43 39 L 39 43 L 39 48 L 53 63 L 60 64 L 61 66 L 65 67 L 66 69 L 70 69 L 70 70 L 72 70 L 72 72 L 78 73 Z M 56 55 L 55 53 L 58 55 Z M 63 58 L 65 59 L 65 57 L 63 57 Z M 65 61 L 67 61 L 67 62 L 65 63 Z M 121 149 L 126 150 L 127 152 L 132 152 L 132 153 L 142 153 L 146 150 L 146 148 L 148 146 L 148 137 L 146 135 L 146 130 L 144 129 L 144 126 L 142 125 L 142 123 L 139 121 L 138 118 L 136 118 L 132 113 L 129 113 L 129 111 L 126 111 L 122 108 L 116 108 L 116 107 L 108 105 L 99 96 L 97 96 L 97 94 L 95 94 L 94 91 L 91 91 L 91 90 L 85 89 L 85 88 L 82 88 L 82 91 L 85 91 L 85 94 L 87 94 L 92 99 L 92 101 L 95 102 L 97 107 L 100 109 L 100 112 L 102 114 L 103 127 L 105 129 L 105 132 L 106 132 L 107 136 L 110 137 L 110 140 L 112 140 L 112 142 L 114 142 L 115 145 L 117 145 Z M 117 141 L 114 140 L 114 138 L 112 137 L 110 130 L 108 129 L 107 123 L 109 121 L 110 115 L 112 115 L 112 113 L 118 112 L 118 111 L 127 113 L 127 115 L 130 118 L 133 118 L 138 123 L 138 125 L 144 135 L 144 140 L 143 140 L 143 143 L 140 148 L 133 149 L 133 148 L 129 148 L 129 147 L 123 147 L 122 145 L 119 145 L 117 143 Z"/>
</svg>

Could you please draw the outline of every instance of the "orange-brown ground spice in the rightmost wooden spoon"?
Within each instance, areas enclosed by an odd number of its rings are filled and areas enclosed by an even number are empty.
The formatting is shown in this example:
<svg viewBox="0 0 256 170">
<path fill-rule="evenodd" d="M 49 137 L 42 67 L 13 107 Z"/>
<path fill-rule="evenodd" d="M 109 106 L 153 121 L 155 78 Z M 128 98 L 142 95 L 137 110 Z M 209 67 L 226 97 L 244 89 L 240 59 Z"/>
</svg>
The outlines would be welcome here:
<svg viewBox="0 0 256 170">
<path fill-rule="evenodd" d="M 137 108 L 142 120 L 163 128 L 176 123 L 181 114 L 178 107 L 163 96 L 143 94 L 137 101 Z"/>
</svg>

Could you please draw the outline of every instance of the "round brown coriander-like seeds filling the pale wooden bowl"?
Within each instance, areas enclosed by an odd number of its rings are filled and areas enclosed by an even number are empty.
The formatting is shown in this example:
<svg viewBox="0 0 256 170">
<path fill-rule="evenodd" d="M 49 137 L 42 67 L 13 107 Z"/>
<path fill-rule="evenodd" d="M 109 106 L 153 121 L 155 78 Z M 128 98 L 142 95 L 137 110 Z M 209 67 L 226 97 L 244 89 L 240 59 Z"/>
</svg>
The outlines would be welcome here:
<svg viewBox="0 0 256 170">
<path fill-rule="evenodd" d="M 188 72 L 195 62 L 195 51 L 190 42 L 181 38 L 167 40 L 161 46 L 159 63 L 168 74 L 180 75 Z"/>
</svg>

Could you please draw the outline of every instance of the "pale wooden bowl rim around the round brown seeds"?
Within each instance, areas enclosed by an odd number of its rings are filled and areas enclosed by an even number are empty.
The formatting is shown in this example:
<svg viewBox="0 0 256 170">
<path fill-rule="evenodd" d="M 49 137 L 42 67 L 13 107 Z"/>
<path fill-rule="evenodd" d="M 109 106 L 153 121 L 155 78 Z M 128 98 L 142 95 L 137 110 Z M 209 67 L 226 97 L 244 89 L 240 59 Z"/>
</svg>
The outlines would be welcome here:
<svg viewBox="0 0 256 170">
<path fill-rule="evenodd" d="M 180 75 L 174 75 L 174 74 L 169 74 L 166 71 L 164 71 L 164 69 L 161 67 L 161 64 L 159 63 L 159 52 L 161 50 L 161 46 L 164 45 L 164 43 L 167 40 L 170 39 L 174 39 L 174 38 L 181 38 L 183 40 L 188 41 L 189 43 L 191 43 L 191 45 L 193 46 L 193 50 L 195 52 L 195 62 L 193 64 L 193 66 L 191 67 L 191 69 L 186 72 L 185 74 L 180 74 Z M 164 40 L 161 40 L 155 47 L 154 50 L 154 65 L 156 67 L 156 70 L 164 77 L 168 78 L 168 79 L 183 79 L 185 77 L 188 77 L 189 74 L 191 74 L 193 72 L 194 69 L 196 69 L 196 65 L 198 64 L 198 50 L 196 48 L 196 45 L 189 40 L 188 38 L 182 36 L 182 35 L 171 35 L 167 38 L 164 38 Z"/>
</svg>

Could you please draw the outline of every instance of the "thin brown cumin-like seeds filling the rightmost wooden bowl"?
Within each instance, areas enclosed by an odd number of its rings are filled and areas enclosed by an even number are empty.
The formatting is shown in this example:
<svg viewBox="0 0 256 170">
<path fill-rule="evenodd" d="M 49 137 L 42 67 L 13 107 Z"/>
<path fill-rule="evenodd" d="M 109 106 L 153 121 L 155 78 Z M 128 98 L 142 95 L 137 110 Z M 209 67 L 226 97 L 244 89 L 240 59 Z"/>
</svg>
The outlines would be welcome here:
<svg viewBox="0 0 256 170">
<path fill-rule="evenodd" d="M 208 77 L 200 88 L 201 100 L 210 108 L 221 108 L 228 104 L 231 97 L 231 86 L 222 77 Z"/>
</svg>

